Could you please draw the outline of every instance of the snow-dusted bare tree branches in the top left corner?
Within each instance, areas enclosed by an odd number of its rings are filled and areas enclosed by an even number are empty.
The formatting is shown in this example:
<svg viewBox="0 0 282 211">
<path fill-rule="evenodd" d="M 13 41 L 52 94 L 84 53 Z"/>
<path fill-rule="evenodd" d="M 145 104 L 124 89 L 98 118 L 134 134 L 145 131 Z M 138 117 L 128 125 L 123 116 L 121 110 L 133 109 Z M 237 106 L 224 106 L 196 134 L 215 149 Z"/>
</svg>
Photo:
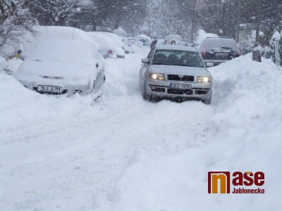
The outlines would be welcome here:
<svg viewBox="0 0 282 211">
<path fill-rule="evenodd" d="M 32 27 L 37 21 L 32 18 L 26 7 L 27 3 L 27 0 L 0 1 L 0 53 L 2 56 L 15 53 L 8 51 L 8 46 L 16 48 L 16 44 L 26 41 L 25 33 L 36 34 Z"/>
</svg>

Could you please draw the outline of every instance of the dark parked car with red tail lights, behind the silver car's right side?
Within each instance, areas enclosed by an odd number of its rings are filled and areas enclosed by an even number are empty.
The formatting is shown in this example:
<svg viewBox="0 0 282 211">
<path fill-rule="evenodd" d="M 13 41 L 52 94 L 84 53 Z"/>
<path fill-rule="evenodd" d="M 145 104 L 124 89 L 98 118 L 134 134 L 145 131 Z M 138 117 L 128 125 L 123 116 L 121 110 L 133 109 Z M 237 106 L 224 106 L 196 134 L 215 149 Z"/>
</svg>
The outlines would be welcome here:
<svg viewBox="0 0 282 211">
<path fill-rule="evenodd" d="M 202 55 L 204 63 L 212 63 L 214 66 L 241 56 L 235 40 L 226 37 L 204 39 L 200 45 L 199 53 Z"/>
</svg>

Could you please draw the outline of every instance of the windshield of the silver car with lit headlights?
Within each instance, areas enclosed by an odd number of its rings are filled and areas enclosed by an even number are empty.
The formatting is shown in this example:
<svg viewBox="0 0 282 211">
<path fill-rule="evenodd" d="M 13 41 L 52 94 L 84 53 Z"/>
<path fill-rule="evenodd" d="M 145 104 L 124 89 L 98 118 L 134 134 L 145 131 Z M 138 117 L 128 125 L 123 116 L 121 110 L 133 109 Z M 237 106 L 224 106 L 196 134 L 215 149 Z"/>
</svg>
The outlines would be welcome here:
<svg viewBox="0 0 282 211">
<path fill-rule="evenodd" d="M 157 49 L 151 64 L 204 68 L 199 53 L 193 51 Z"/>
</svg>

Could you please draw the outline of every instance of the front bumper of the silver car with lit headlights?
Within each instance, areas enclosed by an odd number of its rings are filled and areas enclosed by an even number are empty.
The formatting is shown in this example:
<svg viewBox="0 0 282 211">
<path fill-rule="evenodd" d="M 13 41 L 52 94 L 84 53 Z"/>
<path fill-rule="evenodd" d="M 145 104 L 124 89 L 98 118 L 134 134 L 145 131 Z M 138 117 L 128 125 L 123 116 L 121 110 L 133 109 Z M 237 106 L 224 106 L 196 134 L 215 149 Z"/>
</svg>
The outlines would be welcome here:
<svg viewBox="0 0 282 211">
<path fill-rule="evenodd" d="M 193 98 L 207 99 L 212 97 L 212 82 L 195 83 L 195 82 L 174 82 L 149 79 L 146 84 L 146 93 L 153 96 L 164 98 Z M 171 83 L 176 84 L 191 84 L 191 89 L 172 89 Z"/>
</svg>

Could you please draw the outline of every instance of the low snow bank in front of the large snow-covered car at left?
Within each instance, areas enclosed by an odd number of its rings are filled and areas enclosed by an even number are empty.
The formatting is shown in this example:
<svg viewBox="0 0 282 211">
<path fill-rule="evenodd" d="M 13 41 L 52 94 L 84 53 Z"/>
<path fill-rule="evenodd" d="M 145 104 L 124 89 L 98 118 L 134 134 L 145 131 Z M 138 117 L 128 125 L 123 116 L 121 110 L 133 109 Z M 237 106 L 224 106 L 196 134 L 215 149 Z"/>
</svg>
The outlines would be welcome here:
<svg viewBox="0 0 282 211">
<path fill-rule="evenodd" d="M 0 74 L 0 102 L 0 133 L 30 124 L 72 118 L 92 108 L 91 97 L 44 96 L 4 74 Z"/>
</svg>

